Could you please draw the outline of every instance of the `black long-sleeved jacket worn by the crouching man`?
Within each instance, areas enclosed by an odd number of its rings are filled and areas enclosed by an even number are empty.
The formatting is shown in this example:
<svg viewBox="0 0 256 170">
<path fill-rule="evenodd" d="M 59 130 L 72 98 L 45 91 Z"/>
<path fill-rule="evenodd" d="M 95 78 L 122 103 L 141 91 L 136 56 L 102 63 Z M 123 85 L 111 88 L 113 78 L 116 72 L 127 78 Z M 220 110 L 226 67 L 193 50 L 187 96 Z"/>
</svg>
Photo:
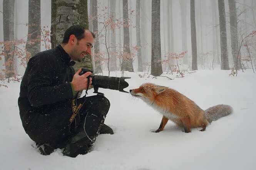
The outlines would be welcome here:
<svg viewBox="0 0 256 170">
<path fill-rule="evenodd" d="M 70 82 L 74 69 L 69 63 L 70 56 L 60 45 L 39 52 L 28 61 L 18 98 L 20 118 L 27 133 L 29 126 L 35 126 L 38 115 L 50 114 L 53 105 L 73 98 Z"/>
</svg>

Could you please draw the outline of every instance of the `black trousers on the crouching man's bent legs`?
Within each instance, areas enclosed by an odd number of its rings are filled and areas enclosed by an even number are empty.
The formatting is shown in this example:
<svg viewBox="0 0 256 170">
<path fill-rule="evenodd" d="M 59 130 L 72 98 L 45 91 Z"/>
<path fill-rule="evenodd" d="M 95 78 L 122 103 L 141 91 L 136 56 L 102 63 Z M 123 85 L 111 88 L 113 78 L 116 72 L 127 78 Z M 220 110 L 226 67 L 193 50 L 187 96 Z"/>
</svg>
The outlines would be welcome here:
<svg viewBox="0 0 256 170">
<path fill-rule="evenodd" d="M 40 114 L 34 119 L 36 127 L 28 135 L 33 141 L 48 143 L 54 148 L 76 142 L 92 145 L 104 124 L 109 107 L 109 100 L 102 95 L 66 100 L 47 108 L 44 113 L 49 114 Z"/>
</svg>

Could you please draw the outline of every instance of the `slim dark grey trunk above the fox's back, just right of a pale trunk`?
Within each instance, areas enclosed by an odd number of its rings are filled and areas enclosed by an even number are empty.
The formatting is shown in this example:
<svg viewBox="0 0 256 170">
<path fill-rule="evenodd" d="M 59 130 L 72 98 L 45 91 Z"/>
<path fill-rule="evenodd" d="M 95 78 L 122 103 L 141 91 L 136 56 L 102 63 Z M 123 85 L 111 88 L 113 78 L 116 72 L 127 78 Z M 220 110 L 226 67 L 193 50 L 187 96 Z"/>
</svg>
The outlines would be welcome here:
<svg viewBox="0 0 256 170">
<path fill-rule="evenodd" d="M 190 0 L 190 23 L 191 23 L 191 46 L 192 46 L 192 70 L 197 70 L 195 0 Z"/>
</svg>

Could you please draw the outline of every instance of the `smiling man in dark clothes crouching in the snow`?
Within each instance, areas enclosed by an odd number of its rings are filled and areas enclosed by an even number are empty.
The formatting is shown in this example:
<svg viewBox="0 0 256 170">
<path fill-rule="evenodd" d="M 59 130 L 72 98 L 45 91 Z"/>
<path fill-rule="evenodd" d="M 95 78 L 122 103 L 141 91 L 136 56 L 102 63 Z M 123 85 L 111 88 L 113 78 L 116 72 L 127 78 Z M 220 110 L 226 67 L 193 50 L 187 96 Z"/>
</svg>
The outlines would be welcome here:
<svg viewBox="0 0 256 170">
<path fill-rule="evenodd" d="M 89 152 L 101 133 L 113 134 L 104 124 L 109 100 L 102 95 L 75 98 L 87 89 L 91 72 L 79 75 L 71 67 L 91 54 L 94 34 L 79 25 L 65 31 L 62 44 L 33 56 L 20 85 L 18 106 L 23 128 L 37 143 L 41 154 L 56 148 L 76 157 Z"/>
</svg>

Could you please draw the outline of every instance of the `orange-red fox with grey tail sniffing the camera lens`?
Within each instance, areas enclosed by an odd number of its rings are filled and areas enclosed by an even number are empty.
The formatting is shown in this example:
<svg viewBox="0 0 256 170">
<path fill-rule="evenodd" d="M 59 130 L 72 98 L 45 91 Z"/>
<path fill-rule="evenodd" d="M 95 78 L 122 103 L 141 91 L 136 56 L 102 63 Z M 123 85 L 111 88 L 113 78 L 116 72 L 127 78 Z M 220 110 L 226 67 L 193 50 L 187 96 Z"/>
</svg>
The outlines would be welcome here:
<svg viewBox="0 0 256 170">
<path fill-rule="evenodd" d="M 130 94 L 140 98 L 163 115 L 159 128 L 152 132 L 163 131 L 168 120 L 184 128 L 186 133 L 191 132 L 191 128 L 197 127 L 202 127 L 200 131 L 205 131 L 212 121 L 233 112 L 231 106 L 223 104 L 204 111 L 194 101 L 176 90 L 153 83 L 144 83 L 139 88 L 131 89 Z"/>
</svg>

